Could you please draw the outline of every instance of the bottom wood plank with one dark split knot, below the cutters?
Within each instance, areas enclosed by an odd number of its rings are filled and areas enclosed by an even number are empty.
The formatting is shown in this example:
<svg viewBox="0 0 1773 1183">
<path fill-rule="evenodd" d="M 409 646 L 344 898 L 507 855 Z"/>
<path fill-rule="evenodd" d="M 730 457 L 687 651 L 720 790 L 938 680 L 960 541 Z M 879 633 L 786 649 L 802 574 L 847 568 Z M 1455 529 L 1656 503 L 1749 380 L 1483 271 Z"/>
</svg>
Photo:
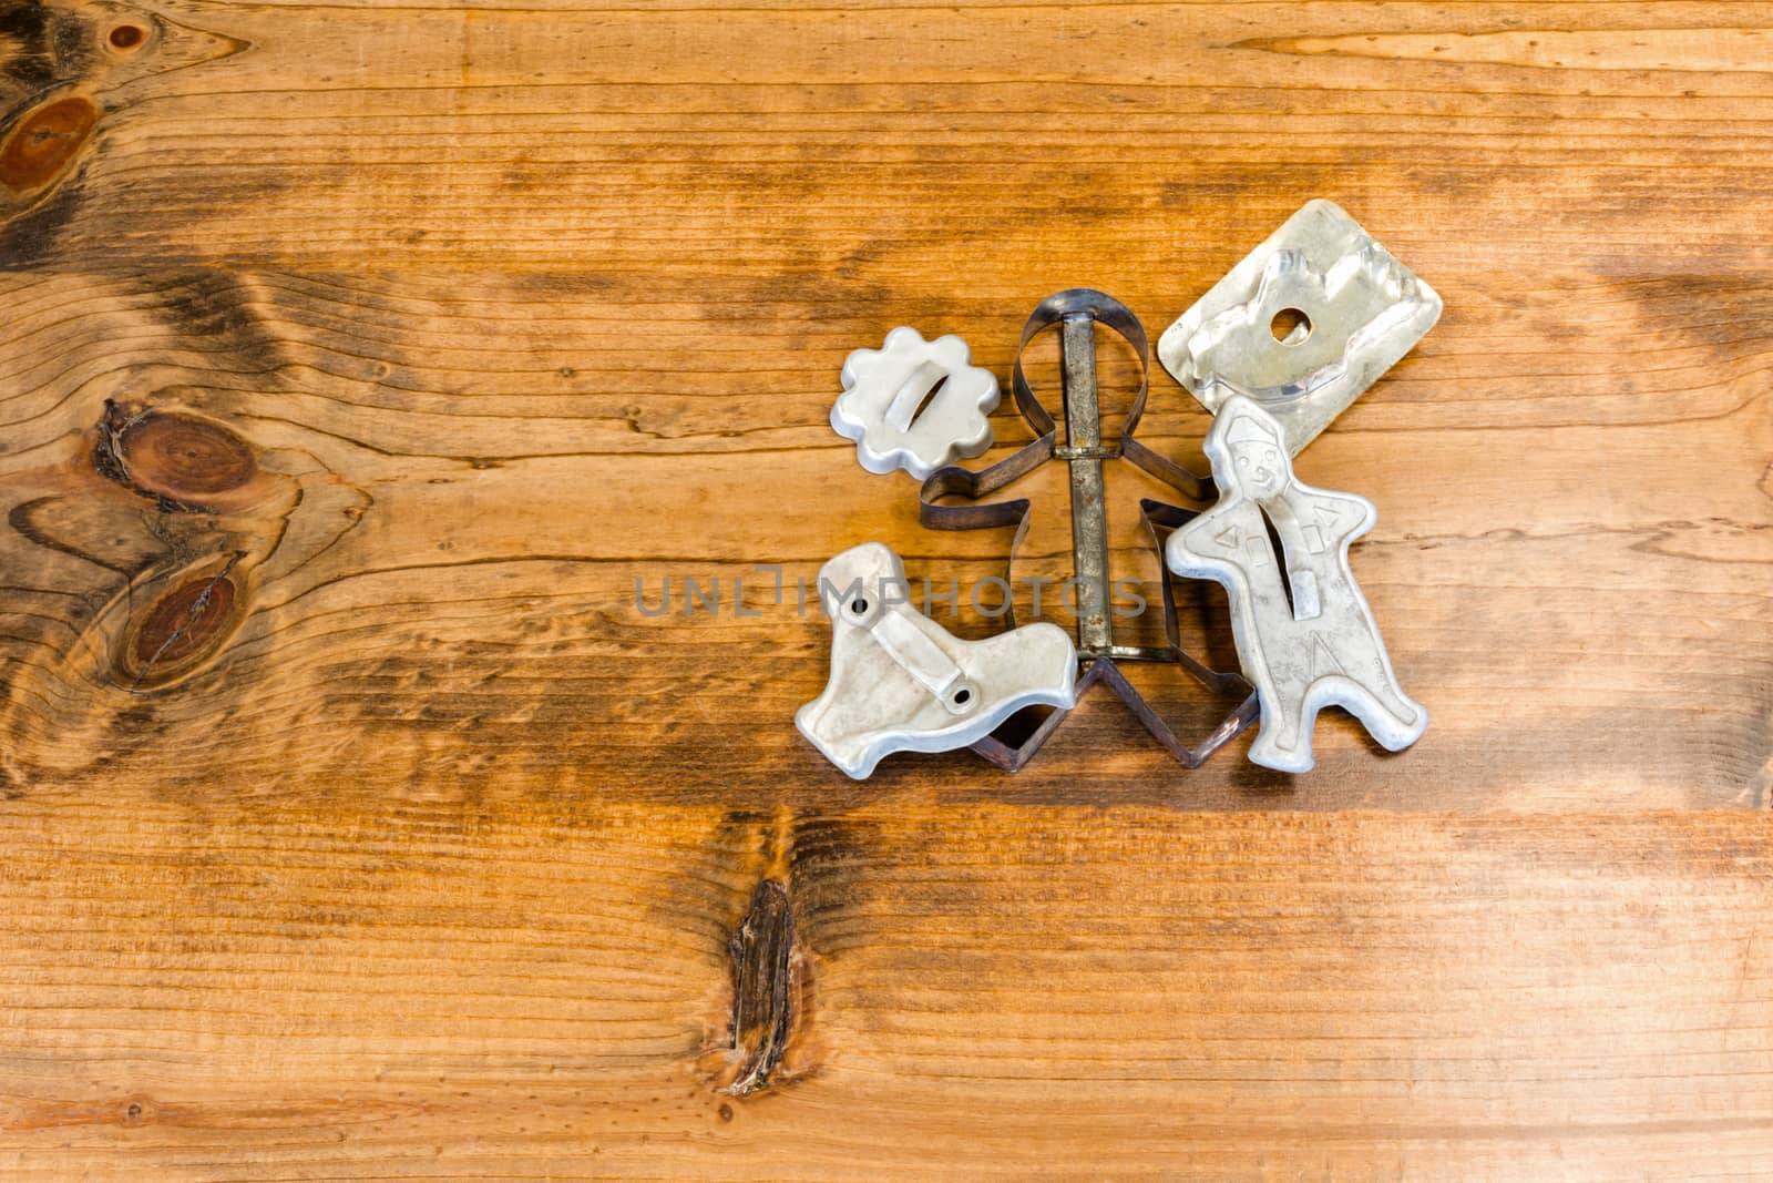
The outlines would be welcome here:
<svg viewBox="0 0 1773 1183">
<path fill-rule="evenodd" d="M 1769 825 L 25 798 L 0 1169 L 1748 1178 Z M 723 1094 L 764 878 L 787 1048 Z"/>
</svg>

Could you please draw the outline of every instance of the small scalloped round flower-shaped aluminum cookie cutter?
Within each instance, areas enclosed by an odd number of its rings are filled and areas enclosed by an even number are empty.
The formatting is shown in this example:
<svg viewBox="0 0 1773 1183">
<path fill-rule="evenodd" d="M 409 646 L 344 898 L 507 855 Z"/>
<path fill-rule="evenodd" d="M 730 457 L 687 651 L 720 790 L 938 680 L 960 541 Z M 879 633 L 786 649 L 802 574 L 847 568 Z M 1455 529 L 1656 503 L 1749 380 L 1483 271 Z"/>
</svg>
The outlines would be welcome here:
<svg viewBox="0 0 1773 1183">
<path fill-rule="evenodd" d="M 856 461 L 869 472 L 904 468 L 922 481 L 991 447 L 996 374 L 973 365 L 966 342 L 952 333 L 924 341 L 901 325 L 879 349 L 855 349 L 842 383 L 832 427 L 856 442 Z"/>
</svg>

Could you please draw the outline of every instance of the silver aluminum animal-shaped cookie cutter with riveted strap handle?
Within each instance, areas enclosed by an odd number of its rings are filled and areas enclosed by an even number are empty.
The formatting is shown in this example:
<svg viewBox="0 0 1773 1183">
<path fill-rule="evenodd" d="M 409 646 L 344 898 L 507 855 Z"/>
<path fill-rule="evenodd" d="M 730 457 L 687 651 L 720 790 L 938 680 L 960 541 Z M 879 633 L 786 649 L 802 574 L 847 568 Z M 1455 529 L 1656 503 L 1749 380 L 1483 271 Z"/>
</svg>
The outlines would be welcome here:
<svg viewBox="0 0 1773 1183">
<path fill-rule="evenodd" d="M 892 752 L 950 752 L 1025 706 L 1069 708 L 1078 654 L 1057 624 L 961 640 L 910 605 L 904 564 L 863 543 L 819 569 L 832 676 L 794 725 L 856 780 Z"/>
</svg>

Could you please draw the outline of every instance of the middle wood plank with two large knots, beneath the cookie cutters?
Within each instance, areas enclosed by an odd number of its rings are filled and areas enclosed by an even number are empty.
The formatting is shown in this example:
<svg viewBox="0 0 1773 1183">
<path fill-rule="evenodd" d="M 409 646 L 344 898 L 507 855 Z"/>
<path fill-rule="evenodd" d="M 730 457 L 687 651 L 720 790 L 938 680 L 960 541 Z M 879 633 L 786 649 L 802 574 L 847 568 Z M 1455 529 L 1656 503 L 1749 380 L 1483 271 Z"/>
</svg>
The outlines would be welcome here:
<svg viewBox="0 0 1773 1183">
<path fill-rule="evenodd" d="M 824 681 L 828 642 L 796 582 L 872 537 L 940 594 L 996 575 L 1009 544 L 924 530 L 913 482 L 862 474 L 824 422 L 844 353 L 890 305 L 824 317 L 826 305 L 778 298 L 752 319 L 569 280 L 406 287 L 285 273 L 0 284 L 20 312 L 0 332 L 0 374 L 18 383 L 0 401 L 12 424 L 0 456 L 11 780 L 76 791 L 239 775 L 268 791 L 348 779 L 402 793 L 415 775 L 470 773 L 514 796 L 541 777 L 640 798 L 851 800 L 787 725 Z M 1090 699 L 1023 777 L 963 752 L 888 761 L 885 782 L 1215 807 L 1764 803 L 1764 346 L 1699 344 L 1720 309 L 1668 287 L 1585 291 L 1606 291 L 1610 314 L 1566 353 L 1537 333 L 1555 335 L 1567 303 L 1509 309 L 1502 289 L 1452 284 L 1456 310 L 1420 356 L 1300 461 L 1307 479 L 1381 505 L 1355 560 L 1406 685 L 1434 713 L 1418 748 L 1374 759 L 1339 718 L 1310 779 L 1239 761 L 1186 773 L 1112 699 Z M 1007 371 L 1018 309 L 972 302 L 938 325 Z M 1518 353 L 1470 341 L 1489 333 Z M 1640 372 L 1642 337 L 1681 358 L 1675 374 Z M 1523 360 L 1530 344 L 1555 356 Z M 1567 380 L 1532 397 L 1509 378 L 1523 364 Z M 1495 394 L 1464 396 L 1475 365 Z M 1206 415 L 1158 381 L 1144 436 L 1199 463 Z M 223 518 L 167 513 L 167 490 L 211 495 L 121 484 L 96 461 L 101 424 L 124 424 L 131 447 L 128 413 L 108 406 L 238 438 L 259 477 L 227 493 Z M 1011 411 L 998 420 L 1005 440 L 1027 438 Z M 184 466 L 167 479 L 209 481 Z M 1030 488 L 1016 576 L 1064 578 L 1064 482 L 1043 474 Z M 1152 605 L 1161 573 L 1136 500 L 1165 493 L 1110 474 L 1115 571 L 1145 580 Z M 154 621 L 184 619 L 190 589 L 230 557 L 234 603 L 207 647 L 144 686 L 165 639 Z M 784 603 L 752 564 L 780 566 Z M 690 612 L 686 580 L 718 582 L 725 608 Z M 734 614 L 734 580 L 750 580 L 755 619 Z M 665 584 L 672 610 L 649 617 Z M 965 592 L 959 607 L 957 628 L 998 628 Z M 1051 599 L 1044 614 L 1071 626 Z M 1216 592 L 1191 592 L 1188 614 L 1195 647 L 1230 669 Z M 1138 635 L 1156 626 L 1152 610 Z M 133 651 L 144 628 L 156 640 Z M 1193 733 L 1227 709 L 1175 672 L 1135 678 Z"/>
</svg>

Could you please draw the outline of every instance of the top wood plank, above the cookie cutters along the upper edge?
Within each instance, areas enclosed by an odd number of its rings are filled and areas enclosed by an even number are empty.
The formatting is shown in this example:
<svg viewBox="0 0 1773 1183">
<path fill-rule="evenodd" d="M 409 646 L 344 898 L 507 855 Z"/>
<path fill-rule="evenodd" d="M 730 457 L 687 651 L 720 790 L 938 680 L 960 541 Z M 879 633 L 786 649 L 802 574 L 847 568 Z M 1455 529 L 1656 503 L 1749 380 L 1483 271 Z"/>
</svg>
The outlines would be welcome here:
<svg viewBox="0 0 1773 1183">
<path fill-rule="evenodd" d="M 99 110 L 18 261 L 1025 302 L 1199 291 L 1301 195 L 1434 277 L 1764 270 L 1773 229 L 1762 4 L 138 11 L 16 39 L 18 92 Z"/>
</svg>

